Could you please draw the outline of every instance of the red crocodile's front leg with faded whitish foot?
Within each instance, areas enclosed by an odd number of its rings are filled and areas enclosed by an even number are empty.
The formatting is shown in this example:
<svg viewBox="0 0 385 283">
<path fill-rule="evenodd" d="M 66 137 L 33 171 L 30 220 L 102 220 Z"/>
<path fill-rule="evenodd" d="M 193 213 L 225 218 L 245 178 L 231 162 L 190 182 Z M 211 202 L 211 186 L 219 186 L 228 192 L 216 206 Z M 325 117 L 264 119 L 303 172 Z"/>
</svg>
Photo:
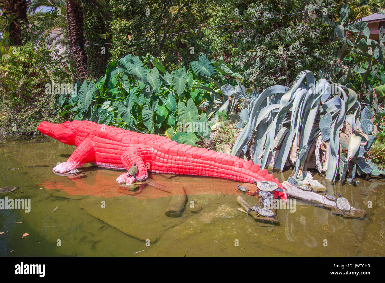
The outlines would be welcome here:
<svg viewBox="0 0 385 283">
<path fill-rule="evenodd" d="M 87 162 L 92 161 L 94 154 L 94 145 L 90 139 L 85 139 L 79 146 L 72 152 L 71 156 L 66 162 L 62 162 L 52 169 L 54 172 L 65 173 L 72 169 L 80 168 Z"/>
</svg>

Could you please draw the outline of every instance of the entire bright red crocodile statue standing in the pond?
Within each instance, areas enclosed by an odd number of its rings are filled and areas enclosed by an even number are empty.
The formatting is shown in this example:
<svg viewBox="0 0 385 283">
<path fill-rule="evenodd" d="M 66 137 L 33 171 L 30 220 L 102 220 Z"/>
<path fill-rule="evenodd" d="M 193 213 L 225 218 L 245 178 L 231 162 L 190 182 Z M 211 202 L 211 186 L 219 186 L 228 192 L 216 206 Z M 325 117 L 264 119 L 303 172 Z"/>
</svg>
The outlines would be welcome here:
<svg viewBox="0 0 385 283">
<path fill-rule="evenodd" d="M 100 125 L 90 121 L 72 121 L 63 124 L 41 122 L 39 131 L 65 144 L 77 148 L 66 162 L 54 167 L 53 171 L 64 173 L 80 168 L 87 162 L 94 165 L 129 170 L 136 164 L 138 173 L 119 176 L 118 183 L 135 183 L 148 178 L 147 170 L 166 174 L 185 174 L 231 179 L 246 183 L 272 181 L 282 188 L 277 178 L 252 161 L 236 156 L 178 144 L 166 137 L 131 132 L 117 127 Z M 276 197 L 287 199 L 283 192 L 275 191 Z"/>
</svg>

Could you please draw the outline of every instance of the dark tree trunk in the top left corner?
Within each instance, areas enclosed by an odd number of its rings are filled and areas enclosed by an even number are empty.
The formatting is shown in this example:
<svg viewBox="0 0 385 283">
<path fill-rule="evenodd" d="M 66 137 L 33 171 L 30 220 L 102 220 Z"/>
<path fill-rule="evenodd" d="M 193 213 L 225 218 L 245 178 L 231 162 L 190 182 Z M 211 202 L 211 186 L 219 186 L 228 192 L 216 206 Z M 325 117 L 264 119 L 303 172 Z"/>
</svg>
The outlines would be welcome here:
<svg viewBox="0 0 385 283">
<path fill-rule="evenodd" d="M 29 0 L 0 0 L 0 9 L 12 20 L 9 25 L 10 44 L 22 45 L 23 24 L 27 23 Z"/>
</svg>

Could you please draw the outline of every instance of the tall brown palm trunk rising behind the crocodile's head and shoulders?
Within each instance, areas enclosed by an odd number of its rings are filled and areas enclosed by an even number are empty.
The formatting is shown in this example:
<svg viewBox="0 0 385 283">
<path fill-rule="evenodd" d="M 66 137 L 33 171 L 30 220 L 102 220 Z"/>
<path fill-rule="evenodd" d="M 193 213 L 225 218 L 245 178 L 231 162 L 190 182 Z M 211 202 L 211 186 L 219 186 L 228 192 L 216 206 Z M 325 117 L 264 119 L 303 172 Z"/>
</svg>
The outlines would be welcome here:
<svg viewBox="0 0 385 283">
<path fill-rule="evenodd" d="M 74 64 L 75 82 L 87 77 L 87 56 L 84 50 L 83 10 L 77 0 L 65 0 L 70 55 Z"/>
</svg>

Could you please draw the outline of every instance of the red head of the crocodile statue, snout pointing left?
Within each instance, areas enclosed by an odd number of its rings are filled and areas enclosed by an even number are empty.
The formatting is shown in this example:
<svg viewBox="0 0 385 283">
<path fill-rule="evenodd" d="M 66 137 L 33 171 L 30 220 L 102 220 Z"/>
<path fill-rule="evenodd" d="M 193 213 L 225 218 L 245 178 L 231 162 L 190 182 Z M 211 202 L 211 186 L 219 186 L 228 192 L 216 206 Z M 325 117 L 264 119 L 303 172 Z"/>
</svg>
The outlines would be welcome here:
<svg viewBox="0 0 385 283">
<path fill-rule="evenodd" d="M 64 122 L 63 124 L 51 124 L 49 122 L 41 122 L 37 127 L 42 134 L 53 137 L 65 144 L 75 145 L 75 137 L 77 132 L 76 122 Z"/>
</svg>

